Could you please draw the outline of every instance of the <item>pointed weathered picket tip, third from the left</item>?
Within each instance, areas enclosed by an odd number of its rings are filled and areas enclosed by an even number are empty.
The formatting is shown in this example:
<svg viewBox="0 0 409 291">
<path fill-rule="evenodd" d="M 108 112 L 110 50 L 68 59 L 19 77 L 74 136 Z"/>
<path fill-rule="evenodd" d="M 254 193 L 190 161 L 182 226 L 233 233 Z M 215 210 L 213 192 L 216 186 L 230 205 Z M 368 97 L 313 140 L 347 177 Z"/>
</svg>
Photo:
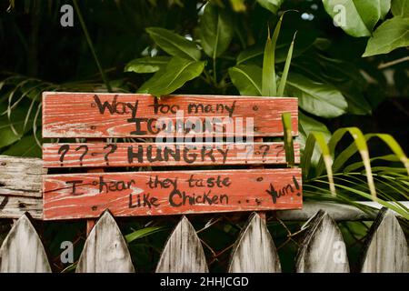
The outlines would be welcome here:
<svg viewBox="0 0 409 291">
<path fill-rule="evenodd" d="M 156 273 L 207 273 L 205 251 L 189 220 L 182 219 L 169 236 Z"/>
</svg>

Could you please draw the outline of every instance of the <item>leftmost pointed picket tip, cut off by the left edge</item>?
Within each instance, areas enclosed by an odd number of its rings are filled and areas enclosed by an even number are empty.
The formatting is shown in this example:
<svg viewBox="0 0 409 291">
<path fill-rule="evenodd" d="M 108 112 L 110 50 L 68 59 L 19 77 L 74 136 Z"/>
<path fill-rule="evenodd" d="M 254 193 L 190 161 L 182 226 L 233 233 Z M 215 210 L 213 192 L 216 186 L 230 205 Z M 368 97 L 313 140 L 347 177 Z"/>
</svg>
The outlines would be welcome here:
<svg viewBox="0 0 409 291">
<path fill-rule="evenodd" d="M 21 216 L 0 249 L 1 273 L 51 273 L 45 248 L 28 216 Z"/>
</svg>

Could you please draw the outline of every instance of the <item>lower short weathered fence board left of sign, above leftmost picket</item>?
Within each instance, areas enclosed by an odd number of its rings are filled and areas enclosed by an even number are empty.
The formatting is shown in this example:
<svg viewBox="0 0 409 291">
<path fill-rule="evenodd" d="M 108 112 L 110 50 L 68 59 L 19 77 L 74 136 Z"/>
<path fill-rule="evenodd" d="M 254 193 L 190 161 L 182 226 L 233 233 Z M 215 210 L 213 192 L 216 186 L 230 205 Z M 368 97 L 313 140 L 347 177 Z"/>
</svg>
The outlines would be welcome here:
<svg viewBox="0 0 409 291">
<path fill-rule="evenodd" d="M 0 196 L 0 218 L 20 218 L 28 212 L 35 219 L 43 218 L 43 199 L 36 197 Z"/>
</svg>

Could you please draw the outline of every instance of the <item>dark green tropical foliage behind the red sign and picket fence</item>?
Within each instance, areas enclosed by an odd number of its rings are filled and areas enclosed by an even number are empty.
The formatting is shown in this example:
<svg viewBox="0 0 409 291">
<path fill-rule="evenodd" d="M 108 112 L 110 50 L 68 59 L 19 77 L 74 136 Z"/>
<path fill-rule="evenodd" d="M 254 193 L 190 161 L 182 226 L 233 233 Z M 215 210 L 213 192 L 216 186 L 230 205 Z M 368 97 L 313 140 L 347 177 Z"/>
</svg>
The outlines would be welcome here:
<svg viewBox="0 0 409 291">
<path fill-rule="evenodd" d="M 73 27 L 60 25 L 65 2 Z M 300 107 L 305 200 L 373 199 L 409 218 L 397 202 L 409 197 L 408 31 L 406 0 L 3 1 L 0 154 L 41 156 L 43 91 L 288 95 Z M 174 223 L 123 226 L 140 269 Z M 195 221 L 214 270 L 239 225 Z M 298 225 L 270 226 L 284 243 Z M 351 241 L 366 227 L 341 226 Z M 45 231 L 58 234 L 55 254 L 67 237 L 83 242 L 80 226 L 63 228 Z"/>
</svg>

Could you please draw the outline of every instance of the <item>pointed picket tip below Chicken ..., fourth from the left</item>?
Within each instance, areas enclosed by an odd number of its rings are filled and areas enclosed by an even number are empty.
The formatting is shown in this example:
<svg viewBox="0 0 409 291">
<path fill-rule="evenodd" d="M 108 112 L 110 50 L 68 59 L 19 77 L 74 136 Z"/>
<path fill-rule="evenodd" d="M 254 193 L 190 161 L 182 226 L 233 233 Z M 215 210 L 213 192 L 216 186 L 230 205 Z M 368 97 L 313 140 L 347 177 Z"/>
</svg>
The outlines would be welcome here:
<svg viewBox="0 0 409 291">
<path fill-rule="evenodd" d="M 280 259 L 264 220 L 254 213 L 235 243 L 229 273 L 281 273 Z"/>
</svg>

